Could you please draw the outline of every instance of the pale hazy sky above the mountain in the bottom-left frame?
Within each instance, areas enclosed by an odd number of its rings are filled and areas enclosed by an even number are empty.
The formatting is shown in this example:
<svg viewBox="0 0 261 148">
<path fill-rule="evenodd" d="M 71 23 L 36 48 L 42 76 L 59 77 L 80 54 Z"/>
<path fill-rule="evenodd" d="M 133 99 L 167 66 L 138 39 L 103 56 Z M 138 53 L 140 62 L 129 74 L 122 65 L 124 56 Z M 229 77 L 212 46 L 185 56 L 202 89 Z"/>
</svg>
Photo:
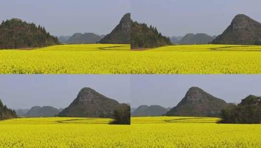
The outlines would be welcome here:
<svg viewBox="0 0 261 148">
<path fill-rule="evenodd" d="M 129 75 L 117 74 L 0 74 L 0 99 L 11 109 L 30 109 L 33 106 L 65 108 L 83 87 L 90 87 L 120 103 L 130 103 L 129 80 Z"/>
</svg>

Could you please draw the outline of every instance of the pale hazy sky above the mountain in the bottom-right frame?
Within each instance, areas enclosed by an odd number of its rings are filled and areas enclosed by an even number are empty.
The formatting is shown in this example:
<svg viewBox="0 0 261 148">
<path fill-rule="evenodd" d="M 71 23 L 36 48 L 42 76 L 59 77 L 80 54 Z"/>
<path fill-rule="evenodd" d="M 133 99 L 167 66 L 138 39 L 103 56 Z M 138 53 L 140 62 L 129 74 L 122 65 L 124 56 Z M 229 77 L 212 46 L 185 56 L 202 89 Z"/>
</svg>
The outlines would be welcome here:
<svg viewBox="0 0 261 148">
<path fill-rule="evenodd" d="M 131 108 L 140 105 L 174 107 L 190 87 L 196 86 L 228 103 L 249 94 L 261 96 L 261 75 L 131 75 Z"/>
</svg>

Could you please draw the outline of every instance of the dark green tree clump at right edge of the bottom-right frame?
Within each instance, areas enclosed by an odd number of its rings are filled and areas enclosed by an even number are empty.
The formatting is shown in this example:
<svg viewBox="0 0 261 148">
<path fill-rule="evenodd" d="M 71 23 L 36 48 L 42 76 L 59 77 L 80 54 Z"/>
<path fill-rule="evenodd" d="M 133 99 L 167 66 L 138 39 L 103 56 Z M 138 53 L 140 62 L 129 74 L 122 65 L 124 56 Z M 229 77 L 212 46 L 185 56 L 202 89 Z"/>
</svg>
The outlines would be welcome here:
<svg viewBox="0 0 261 148">
<path fill-rule="evenodd" d="M 261 123 L 261 97 L 249 95 L 238 105 L 231 105 L 221 111 L 220 123 Z"/>
</svg>

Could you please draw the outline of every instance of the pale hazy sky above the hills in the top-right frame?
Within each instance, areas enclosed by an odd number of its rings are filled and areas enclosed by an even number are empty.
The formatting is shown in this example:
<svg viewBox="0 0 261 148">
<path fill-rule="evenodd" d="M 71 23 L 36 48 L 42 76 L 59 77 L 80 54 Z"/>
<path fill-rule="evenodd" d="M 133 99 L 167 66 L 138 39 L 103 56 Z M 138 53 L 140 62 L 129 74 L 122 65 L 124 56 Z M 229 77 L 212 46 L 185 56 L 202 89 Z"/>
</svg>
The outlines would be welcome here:
<svg viewBox="0 0 261 148">
<path fill-rule="evenodd" d="M 220 35 L 237 14 L 261 22 L 260 0 L 132 0 L 133 20 L 156 26 L 164 36 Z"/>
</svg>

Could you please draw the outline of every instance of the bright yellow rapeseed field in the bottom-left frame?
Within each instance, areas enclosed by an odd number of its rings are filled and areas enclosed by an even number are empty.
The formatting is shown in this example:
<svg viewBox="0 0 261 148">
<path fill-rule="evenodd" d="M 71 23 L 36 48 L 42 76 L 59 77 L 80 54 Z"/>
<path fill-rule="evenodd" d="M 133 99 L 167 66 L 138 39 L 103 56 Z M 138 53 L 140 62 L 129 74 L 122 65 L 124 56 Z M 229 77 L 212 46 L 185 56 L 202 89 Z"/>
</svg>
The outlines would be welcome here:
<svg viewBox="0 0 261 148">
<path fill-rule="evenodd" d="M 0 148 L 129 148 L 129 126 L 103 118 L 20 118 L 0 121 Z"/>
</svg>

